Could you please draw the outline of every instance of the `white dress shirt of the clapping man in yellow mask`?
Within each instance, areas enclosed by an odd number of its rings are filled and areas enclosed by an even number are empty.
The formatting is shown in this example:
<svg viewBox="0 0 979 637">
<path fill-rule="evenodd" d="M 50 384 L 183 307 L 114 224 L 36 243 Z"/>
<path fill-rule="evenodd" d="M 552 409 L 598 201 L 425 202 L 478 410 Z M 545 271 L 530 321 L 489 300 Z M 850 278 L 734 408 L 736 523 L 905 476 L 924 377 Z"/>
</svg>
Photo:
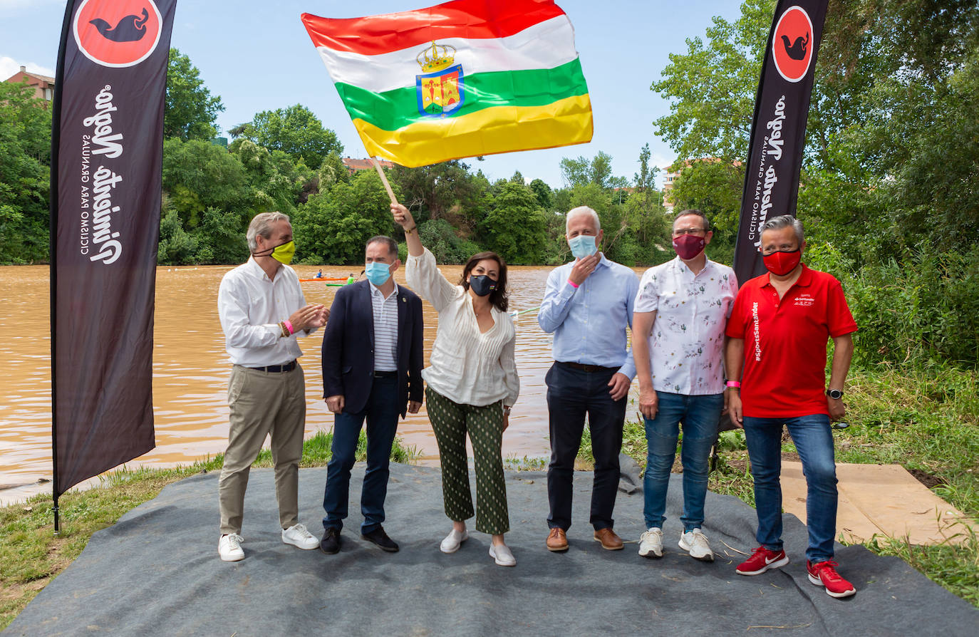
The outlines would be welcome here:
<svg viewBox="0 0 979 637">
<path fill-rule="evenodd" d="M 224 275 L 217 313 L 228 357 L 235 365 L 284 365 L 303 355 L 296 337 L 283 338 L 279 322 L 306 304 L 296 271 L 283 265 L 269 279 L 254 257 Z M 310 330 L 310 333 L 312 331 Z"/>
</svg>

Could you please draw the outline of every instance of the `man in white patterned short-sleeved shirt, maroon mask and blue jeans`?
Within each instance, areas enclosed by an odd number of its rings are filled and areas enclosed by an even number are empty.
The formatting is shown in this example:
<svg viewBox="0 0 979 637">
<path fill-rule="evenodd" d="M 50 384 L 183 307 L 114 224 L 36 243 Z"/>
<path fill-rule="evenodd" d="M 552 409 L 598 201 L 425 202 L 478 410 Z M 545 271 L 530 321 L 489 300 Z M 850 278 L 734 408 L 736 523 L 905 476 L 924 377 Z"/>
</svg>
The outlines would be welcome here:
<svg viewBox="0 0 979 637">
<path fill-rule="evenodd" d="M 639 555 L 644 558 L 663 557 L 667 487 L 682 423 L 683 532 L 679 547 L 697 560 L 714 561 L 701 526 L 711 445 L 726 407 L 724 326 L 737 294 L 737 281 L 733 270 L 707 258 L 704 249 L 713 234 L 700 210 L 676 215 L 676 258 L 646 270 L 635 297 L 632 354 L 648 445 L 643 481 L 648 530 L 639 539 Z"/>
</svg>

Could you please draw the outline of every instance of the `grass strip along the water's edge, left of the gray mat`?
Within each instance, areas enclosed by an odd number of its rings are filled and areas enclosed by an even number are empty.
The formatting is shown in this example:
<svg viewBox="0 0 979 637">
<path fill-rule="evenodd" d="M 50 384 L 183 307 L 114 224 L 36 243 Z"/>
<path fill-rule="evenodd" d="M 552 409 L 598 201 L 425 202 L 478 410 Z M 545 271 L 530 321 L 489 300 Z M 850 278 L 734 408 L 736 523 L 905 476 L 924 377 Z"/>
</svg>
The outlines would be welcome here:
<svg viewBox="0 0 979 637">
<path fill-rule="evenodd" d="M 330 460 L 333 433 L 316 432 L 303 442 L 301 467 L 320 467 Z M 414 447 L 399 439 L 391 459 L 410 463 L 418 456 Z M 360 432 L 356 459 L 367 457 L 367 436 Z M 70 491 L 59 498 L 61 533 L 54 534 L 50 493 L 41 493 L 23 504 L 0 507 L 0 630 L 14 620 L 55 576 L 68 567 L 97 530 L 112 526 L 130 509 L 152 500 L 167 484 L 197 474 L 219 471 L 223 455 L 188 467 L 173 469 L 122 467 L 101 478 L 102 484 Z M 253 467 L 271 467 L 272 455 L 263 449 Z M 216 524 L 216 519 L 215 519 Z"/>
</svg>

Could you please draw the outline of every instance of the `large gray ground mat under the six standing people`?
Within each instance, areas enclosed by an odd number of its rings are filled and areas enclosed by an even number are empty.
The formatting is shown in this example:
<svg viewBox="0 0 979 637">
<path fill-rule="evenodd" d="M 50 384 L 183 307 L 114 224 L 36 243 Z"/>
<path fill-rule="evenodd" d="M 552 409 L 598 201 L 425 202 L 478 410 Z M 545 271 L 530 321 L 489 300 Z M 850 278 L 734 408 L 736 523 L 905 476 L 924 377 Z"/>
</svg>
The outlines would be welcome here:
<svg viewBox="0 0 979 637">
<path fill-rule="evenodd" d="M 697 562 L 676 547 L 680 477 L 670 485 L 666 555 L 638 557 L 642 493 L 619 494 L 623 551 L 606 551 L 587 523 L 591 475 L 576 474 L 571 549 L 547 535 L 546 476 L 507 472 L 512 569 L 471 532 L 455 554 L 438 469 L 392 465 L 384 553 L 360 538 L 364 467 L 350 483 L 350 519 L 337 555 L 282 543 L 271 470 L 252 472 L 245 560 L 217 557 L 217 475 L 171 484 L 95 533 L 81 556 L 8 627 L 11 635 L 566 635 L 717 633 L 791 635 L 979 634 L 979 612 L 897 558 L 837 546 L 858 593 L 835 600 L 806 576 L 806 527 L 785 516 L 784 569 L 746 577 L 734 567 L 755 547 L 755 511 L 708 494 L 705 532 L 718 552 Z M 319 535 L 325 468 L 300 472 L 300 519 Z M 474 488 L 475 493 L 475 488 Z M 472 528 L 473 524 L 470 523 Z M 741 553 L 738 553 L 741 552 Z"/>
</svg>

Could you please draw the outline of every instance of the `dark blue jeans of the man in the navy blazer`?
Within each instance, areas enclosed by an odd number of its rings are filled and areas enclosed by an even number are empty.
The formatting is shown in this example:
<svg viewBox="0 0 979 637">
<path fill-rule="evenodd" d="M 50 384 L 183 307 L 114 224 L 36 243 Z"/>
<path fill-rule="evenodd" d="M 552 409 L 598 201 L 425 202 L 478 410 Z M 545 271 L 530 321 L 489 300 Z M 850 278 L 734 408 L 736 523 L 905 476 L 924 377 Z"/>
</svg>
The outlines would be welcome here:
<svg viewBox="0 0 979 637">
<path fill-rule="evenodd" d="M 326 493 L 323 496 L 324 528 L 340 529 L 347 518 L 350 502 L 350 469 L 357 450 L 357 438 L 367 420 L 367 472 L 360 492 L 361 533 L 369 533 L 384 523 L 384 499 L 391 474 L 391 446 L 397 432 L 397 377 L 375 378 L 363 411 L 336 415 L 333 425 L 333 456 L 326 466 Z"/>
</svg>

